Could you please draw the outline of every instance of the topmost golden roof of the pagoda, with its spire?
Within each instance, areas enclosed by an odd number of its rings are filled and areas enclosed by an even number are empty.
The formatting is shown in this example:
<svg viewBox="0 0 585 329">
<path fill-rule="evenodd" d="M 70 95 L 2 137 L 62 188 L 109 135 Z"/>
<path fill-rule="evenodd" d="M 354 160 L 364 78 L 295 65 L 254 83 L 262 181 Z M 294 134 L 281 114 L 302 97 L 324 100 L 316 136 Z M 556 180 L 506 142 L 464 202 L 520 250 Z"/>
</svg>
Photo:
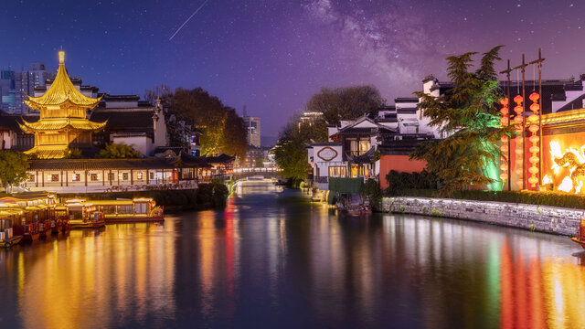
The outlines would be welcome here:
<svg viewBox="0 0 585 329">
<path fill-rule="evenodd" d="M 28 96 L 28 100 L 25 100 L 27 106 L 33 110 L 40 111 L 41 109 L 47 108 L 48 106 L 67 106 L 78 107 L 83 109 L 93 109 L 100 101 L 101 97 L 91 98 L 83 95 L 80 90 L 77 90 L 65 69 L 65 53 L 59 51 L 59 64 L 57 77 L 51 84 L 51 87 L 45 92 L 44 95 L 39 97 Z"/>
</svg>

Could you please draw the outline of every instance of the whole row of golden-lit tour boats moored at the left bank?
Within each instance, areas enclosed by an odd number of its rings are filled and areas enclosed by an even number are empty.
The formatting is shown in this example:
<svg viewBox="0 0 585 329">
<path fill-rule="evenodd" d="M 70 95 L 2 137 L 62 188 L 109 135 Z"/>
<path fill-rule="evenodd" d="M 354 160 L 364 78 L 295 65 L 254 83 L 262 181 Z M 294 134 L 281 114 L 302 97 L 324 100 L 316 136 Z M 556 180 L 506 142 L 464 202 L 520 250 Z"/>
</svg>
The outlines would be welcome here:
<svg viewBox="0 0 585 329">
<path fill-rule="evenodd" d="M 117 200 L 65 199 L 22 193 L 0 197 L 0 247 L 34 241 L 75 228 L 101 228 L 108 223 L 165 220 L 152 198 Z"/>
</svg>

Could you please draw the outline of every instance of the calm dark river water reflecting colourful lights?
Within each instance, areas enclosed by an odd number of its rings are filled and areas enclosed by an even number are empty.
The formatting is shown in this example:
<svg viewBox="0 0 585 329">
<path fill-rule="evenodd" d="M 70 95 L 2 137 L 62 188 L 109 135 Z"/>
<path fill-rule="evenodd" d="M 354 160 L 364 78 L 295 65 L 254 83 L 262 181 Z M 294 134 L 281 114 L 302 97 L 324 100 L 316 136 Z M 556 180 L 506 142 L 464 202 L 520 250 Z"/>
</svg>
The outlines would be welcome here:
<svg viewBox="0 0 585 329">
<path fill-rule="evenodd" d="M 568 238 L 452 219 L 337 217 L 300 191 L 0 249 L 0 327 L 566 328 Z"/>
</svg>

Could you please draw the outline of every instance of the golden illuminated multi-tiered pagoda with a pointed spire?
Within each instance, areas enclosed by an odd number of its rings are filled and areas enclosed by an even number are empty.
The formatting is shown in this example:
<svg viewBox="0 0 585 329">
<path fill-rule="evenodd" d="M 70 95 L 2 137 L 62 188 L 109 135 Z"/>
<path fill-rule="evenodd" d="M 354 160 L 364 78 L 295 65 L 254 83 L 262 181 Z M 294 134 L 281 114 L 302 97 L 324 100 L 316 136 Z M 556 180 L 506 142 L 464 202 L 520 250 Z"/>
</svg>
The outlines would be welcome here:
<svg viewBox="0 0 585 329">
<path fill-rule="evenodd" d="M 57 77 L 50 88 L 40 97 L 27 95 L 25 103 L 32 110 L 40 111 L 37 122 L 23 119 L 20 128 L 35 134 L 35 146 L 26 154 L 40 159 L 59 159 L 69 154 L 69 147 L 91 148 L 91 133 L 101 131 L 106 122 L 91 122 L 88 110 L 96 107 L 99 98 L 91 98 L 77 90 L 65 69 L 65 52 L 58 52 Z"/>
</svg>

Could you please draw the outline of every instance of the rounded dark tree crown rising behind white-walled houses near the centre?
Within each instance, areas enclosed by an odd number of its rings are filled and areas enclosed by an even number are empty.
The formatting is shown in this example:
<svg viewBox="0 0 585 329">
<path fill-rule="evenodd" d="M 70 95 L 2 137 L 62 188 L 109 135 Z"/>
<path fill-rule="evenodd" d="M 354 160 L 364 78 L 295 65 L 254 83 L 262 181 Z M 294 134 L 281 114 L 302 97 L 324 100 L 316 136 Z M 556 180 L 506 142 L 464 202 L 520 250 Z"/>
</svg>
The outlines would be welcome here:
<svg viewBox="0 0 585 329">
<path fill-rule="evenodd" d="M 380 92 L 373 86 L 322 88 L 307 102 L 307 111 L 322 112 L 326 122 L 356 120 L 364 114 L 379 110 L 384 104 Z"/>
</svg>

